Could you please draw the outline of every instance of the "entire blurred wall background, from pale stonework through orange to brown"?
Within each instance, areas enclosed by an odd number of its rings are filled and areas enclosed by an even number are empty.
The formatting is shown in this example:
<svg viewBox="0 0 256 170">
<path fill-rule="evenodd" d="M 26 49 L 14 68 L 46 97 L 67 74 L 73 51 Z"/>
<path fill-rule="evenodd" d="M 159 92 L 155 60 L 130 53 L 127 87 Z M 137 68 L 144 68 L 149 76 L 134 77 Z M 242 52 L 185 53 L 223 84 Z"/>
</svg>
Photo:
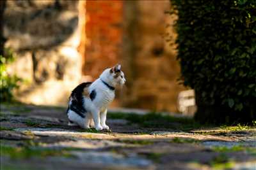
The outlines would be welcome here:
<svg viewBox="0 0 256 170">
<path fill-rule="evenodd" d="M 120 63 L 127 83 L 111 108 L 195 112 L 193 90 L 177 81 L 170 1 L 17 0 L 1 8 L 4 48 L 14 56 L 6 74 L 22 79 L 18 101 L 66 106 L 79 83 Z"/>
</svg>

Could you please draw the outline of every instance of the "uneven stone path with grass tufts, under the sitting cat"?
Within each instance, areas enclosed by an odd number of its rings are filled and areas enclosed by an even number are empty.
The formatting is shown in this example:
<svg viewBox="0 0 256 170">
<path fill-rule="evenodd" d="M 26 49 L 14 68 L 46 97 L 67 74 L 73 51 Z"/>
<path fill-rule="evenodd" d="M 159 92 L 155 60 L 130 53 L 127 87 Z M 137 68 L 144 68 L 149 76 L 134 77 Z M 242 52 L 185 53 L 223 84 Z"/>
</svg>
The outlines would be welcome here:
<svg viewBox="0 0 256 170">
<path fill-rule="evenodd" d="M 65 108 L 19 104 L 1 104 L 0 125 L 1 169 L 256 169 L 255 127 L 109 113 L 111 132 L 86 131 Z"/>
</svg>

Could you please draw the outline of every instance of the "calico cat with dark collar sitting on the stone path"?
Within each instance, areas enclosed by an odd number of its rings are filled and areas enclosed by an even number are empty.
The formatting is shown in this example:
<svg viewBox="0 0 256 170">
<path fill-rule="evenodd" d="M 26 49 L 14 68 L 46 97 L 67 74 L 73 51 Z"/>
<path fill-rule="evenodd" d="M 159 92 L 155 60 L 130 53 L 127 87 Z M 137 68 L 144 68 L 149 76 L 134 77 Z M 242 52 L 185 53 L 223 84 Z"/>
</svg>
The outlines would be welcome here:
<svg viewBox="0 0 256 170">
<path fill-rule="evenodd" d="M 94 122 L 97 131 L 108 130 L 108 105 L 115 98 L 116 87 L 124 85 L 125 81 L 121 65 L 117 64 L 105 69 L 97 80 L 78 85 L 69 97 L 68 125 L 79 125 L 88 129 Z"/>
</svg>

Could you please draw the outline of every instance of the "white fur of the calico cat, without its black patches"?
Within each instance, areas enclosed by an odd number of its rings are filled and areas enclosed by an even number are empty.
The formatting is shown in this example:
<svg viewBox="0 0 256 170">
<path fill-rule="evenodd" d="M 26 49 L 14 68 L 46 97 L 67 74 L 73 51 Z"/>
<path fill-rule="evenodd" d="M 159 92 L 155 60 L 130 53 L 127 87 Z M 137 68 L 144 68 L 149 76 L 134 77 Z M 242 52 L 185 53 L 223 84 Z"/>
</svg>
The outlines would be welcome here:
<svg viewBox="0 0 256 170">
<path fill-rule="evenodd" d="M 109 129 L 108 125 L 106 125 L 106 116 L 108 106 L 115 98 L 115 91 L 109 89 L 104 83 L 102 83 L 102 80 L 112 87 L 122 86 L 126 81 L 124 73 L 122 71 L 115 73 L 115 69 L 120 71 L 121 66 L 116 65 L 113 68 L 106 69 L 88 88 L 89 93 L 91 93 L 92 90 L 95 90 L 96 96 L 93 101 L 89 97 L 84 97 L 84 108 L 88 111 L 85 118 L 81 118 L 79 115 L 74 113 L 74 111 L 70 110 L 68 111 L 69 120 L 76 122 L 77 125 L 85 129 L 90 128 L 90 125 L 92 125 L 93 122 L 97 131 Z M 115 78 L 114 76 L 116 74 L 119 74 L 120 76 Z"/>
</svg>

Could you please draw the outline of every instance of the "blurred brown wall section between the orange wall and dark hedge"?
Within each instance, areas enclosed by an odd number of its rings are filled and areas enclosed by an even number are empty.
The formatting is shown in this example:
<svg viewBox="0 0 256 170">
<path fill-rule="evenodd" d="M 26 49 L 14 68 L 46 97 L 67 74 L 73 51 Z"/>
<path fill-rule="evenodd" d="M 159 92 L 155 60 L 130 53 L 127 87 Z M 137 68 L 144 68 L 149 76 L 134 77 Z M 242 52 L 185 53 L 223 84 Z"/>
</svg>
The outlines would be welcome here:
<svg viewBox="0 0 256 170">
<path fill-rule="evenodd" d="M 174 50 L 176 34 L 172 24 L 176 18 L 164 13 L 170 10 L 170 1 L 138 1 L 127 10 L 127 15 L 136 15 L 134 24 L 127 25 L 127 36 L 133 37 L 130 67 L 134 76 L 130 80 L 129 97 L 124 101 L 128 106 L 150 110 L 176 111 L 177 94 L 182 89 L 177 84 L 179 65 Z M 126 18 L 124 19 L 126 20 Z M 132 27 L 132 28 L 129 28 Z M 132 31 L 129 31 L 132 29 Z M 164 39 L 171 34 L 172 39 Z"/>
</svg>

